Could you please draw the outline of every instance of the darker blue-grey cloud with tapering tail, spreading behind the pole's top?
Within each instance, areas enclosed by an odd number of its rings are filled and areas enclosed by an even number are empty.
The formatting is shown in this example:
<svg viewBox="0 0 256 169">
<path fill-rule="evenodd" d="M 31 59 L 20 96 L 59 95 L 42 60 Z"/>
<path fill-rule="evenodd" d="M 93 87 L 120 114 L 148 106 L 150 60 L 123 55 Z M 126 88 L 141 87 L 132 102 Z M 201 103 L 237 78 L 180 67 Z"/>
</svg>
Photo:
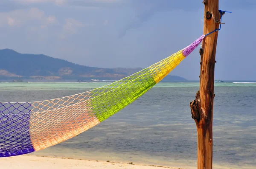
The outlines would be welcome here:
<svg viewBox="0 0 256 169">
<path fill-rule="evenodd" d="M 204 8 L 200 1 L 194 2 L 193 0 L 127 0 L 126 2 L 134 8 L 136 17 L 123 27 L 119 37 L 125 36 L 132 29 L 140 28 L 143 23 L 150 20 L 158 12 L 174 10 L 197 11 L 199 8 Z M 220 8 L 228 6 L 227 11 L 234 8 L 250 9 L 255 8 L 256 0 L 243 0 L 243 3 L 239 0 L 225 0 L 219 6 Z"/>
</svg>

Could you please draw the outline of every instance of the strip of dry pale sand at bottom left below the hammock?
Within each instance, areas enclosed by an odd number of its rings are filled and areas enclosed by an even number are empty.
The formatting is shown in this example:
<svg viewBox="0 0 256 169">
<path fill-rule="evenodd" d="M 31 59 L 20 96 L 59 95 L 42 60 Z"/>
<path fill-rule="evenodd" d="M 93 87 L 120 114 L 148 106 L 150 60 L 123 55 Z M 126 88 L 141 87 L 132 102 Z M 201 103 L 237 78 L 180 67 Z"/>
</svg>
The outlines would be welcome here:
<svg viewBox="0 0 256 169">
<path fill-rule="evenodd" d="M 29 155 L 0 158 L 0 164 L 0 169 L 182 169 Z"/>
</svg>

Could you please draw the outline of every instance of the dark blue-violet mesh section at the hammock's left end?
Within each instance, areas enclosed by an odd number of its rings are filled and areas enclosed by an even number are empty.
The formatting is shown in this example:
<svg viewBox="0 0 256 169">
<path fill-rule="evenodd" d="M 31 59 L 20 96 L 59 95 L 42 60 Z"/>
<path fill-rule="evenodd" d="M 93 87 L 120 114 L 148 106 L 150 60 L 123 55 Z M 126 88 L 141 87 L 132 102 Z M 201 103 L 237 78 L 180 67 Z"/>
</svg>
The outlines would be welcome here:
<svg viewBox="0 0 256 169">
<path fill-rule="evenodd" d="M 29 103 L 0 102 L 0 157 L 34 152 L 29 133 Z"/>
</svg>

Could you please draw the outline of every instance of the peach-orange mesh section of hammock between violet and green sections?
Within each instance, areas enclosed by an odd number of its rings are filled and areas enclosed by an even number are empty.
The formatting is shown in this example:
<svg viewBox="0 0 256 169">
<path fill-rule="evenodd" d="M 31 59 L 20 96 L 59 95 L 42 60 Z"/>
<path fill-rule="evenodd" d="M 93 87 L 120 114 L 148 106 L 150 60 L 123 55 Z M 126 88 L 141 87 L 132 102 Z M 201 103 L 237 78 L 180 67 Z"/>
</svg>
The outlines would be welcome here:
<svg viewBox="0 0 256 169">
<path fill-rule="evenodd" d="M 32 113 L 30 136 L 35 151 L 53 146 L 99 124 L 90 100 Z"/>
</svg>

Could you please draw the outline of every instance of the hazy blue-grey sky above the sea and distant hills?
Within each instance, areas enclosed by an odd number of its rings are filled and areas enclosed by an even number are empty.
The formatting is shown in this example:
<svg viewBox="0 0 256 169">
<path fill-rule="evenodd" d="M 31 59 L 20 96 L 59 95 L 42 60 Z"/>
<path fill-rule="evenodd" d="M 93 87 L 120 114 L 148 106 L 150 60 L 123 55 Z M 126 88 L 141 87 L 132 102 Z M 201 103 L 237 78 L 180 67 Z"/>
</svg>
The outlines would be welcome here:
<svg viewBox="0 0 256 169">
<path fill-rule="evenodd" d="M 215 79 L 256 80 L 256 0 L 219 0 Z M 203 33 L 202 0 L 0 0 L 0 49 L 146 68 Z M 199 47 L 170 75 L 199 80 Z"/>
</svg>

